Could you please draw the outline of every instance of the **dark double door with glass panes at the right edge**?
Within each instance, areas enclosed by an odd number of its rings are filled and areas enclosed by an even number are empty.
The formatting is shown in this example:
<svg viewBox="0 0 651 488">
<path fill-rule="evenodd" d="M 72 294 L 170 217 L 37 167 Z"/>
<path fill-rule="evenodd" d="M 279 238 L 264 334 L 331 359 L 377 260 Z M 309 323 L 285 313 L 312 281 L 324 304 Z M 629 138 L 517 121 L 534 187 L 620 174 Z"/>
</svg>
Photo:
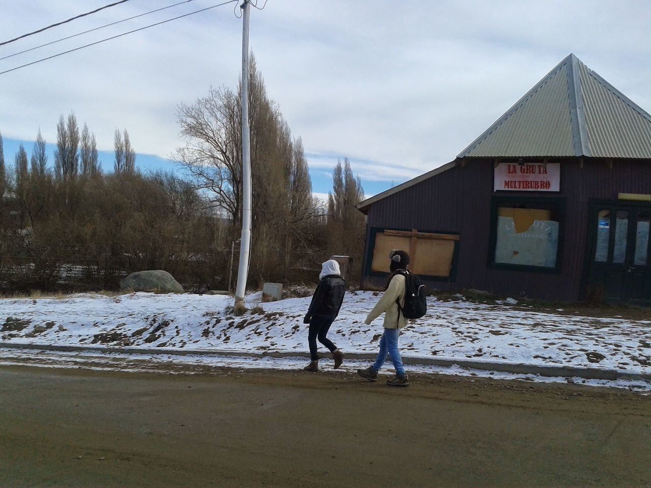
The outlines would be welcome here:
<svg viewBox="0 0 651 488">
<path fill-rule="evenodd" d="M 588 289 L 609 302 L 651 305 L 651 204 L 590 206 Z"/>
</svg>

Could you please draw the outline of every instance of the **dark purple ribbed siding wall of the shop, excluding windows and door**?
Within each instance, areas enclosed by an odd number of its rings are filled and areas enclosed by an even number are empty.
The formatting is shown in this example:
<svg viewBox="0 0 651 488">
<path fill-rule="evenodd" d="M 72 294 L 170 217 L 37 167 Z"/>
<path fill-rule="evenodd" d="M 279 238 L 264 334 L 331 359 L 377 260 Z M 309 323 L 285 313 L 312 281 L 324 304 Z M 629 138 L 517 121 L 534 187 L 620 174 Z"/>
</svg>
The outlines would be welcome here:
<svg viewBox="0 0 651 488">
<path fill-rule="evenodd" d="M 477 288 L 497 295 L 576 301 L 581 294 L 590 198 L 616 200 L 618 193 L 651 193 L 649 161 L 561 162 L 561 192 L 500 192 L 509 197 L 561 197 L 565 202 L 564 237 L 559 243 L 560 273 L 492 269 L 490 249 L 493 161 L 469 161 L 372 204 L 368 230 L 415 228 L 423 232 L 459 233 L 456 280 L 428 281 L 437 290 Z M 366 269 L 364 263 L 363 269 Z M 363 276 L 364 285 L 382 286 L 385 277 Z"/>
</svg>

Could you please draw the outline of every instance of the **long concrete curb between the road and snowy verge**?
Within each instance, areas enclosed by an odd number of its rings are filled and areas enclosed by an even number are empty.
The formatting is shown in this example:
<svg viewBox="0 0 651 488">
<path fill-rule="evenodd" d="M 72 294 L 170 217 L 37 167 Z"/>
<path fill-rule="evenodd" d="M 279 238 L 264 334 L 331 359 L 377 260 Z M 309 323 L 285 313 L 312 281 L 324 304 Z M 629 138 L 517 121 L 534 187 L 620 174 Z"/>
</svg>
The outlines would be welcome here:
<svg viewBox="0 0 651 488">
<path fill-rule="evenodd" d="M 35 349 L 38 351 L 66 351 L 66 352 L 83 352 L 93 351 L 100 353 L 120 353 L 120 354 L 156 354 L 156 355 L 203 355 L 203 356 L 232 356 L 232 357 L 305 357 L 309 358 L 309 353 L 304 352 L 240 352 L 240 351 L 223 351 L 219 349 L 165 349 L 163 347 L 108 347 L 108 346 L 51 346 L 47 344 L 12 344 L 10 342 L 0 342 L 0 347 L 5 349 Z M 374 360 L 376 354 L 368 353 L 346 353 L 348 359 Z M 402 357 L 404 364 L 419 366 L 460 366 L 462 368 L 473 368 L 476 370 L 497 371 L 503 373 L 516 373 L 526 375 L 541 375 L 546 377 L 579 377 L 583 379 L 607 379 L 615 381 L 617 379 L 643 379 L 651 381 L 651 374 L 630 373 L 620 370 L 600 369 L 600 368 L 582 368 L 578 366 L 538 366 L 533 364 L 521 364 L 510 362 L 483 362 L 473 360 L 458 359 L 433 359 L 433 358 L 415 358 Z"/>
</svg>

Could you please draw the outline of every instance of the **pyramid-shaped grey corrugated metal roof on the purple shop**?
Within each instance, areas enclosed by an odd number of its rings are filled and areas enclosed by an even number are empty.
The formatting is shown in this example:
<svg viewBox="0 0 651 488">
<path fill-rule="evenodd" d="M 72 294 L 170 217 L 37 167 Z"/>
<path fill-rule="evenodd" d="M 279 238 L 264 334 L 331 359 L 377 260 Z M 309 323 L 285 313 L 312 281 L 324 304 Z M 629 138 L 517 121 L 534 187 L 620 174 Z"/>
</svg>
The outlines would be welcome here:
<svg viewBox="0 0 651 488">
<path fill-rule="evenodd" d="M 651 116 L 570 54 L 458 157 L 651 158 Z"/>
</svg>

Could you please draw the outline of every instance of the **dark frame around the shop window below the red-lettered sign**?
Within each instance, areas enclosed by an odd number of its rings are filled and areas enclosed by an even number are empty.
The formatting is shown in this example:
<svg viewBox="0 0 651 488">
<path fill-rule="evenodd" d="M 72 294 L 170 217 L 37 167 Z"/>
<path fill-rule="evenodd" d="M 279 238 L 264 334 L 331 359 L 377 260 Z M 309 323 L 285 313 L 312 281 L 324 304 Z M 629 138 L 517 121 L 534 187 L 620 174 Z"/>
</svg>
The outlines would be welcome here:
<svg viewBox="0 0 651 488">
<path fill-rule="evenodd" d="M 556 265 L 554 267 L 506 264 L 495 262 L 495 249 L 497 248 L 497 209 L 500 204 L 523 203 L 529 205 L 542 204 L 557 206 L 559 214 L 559 241 L 556 249 Z M 490 232 L 488 241 L 487 266 L 490 269 L 503 269 L 509 271 L 526 271 L 528 273 L 545 273 L 559 275 L 562 272 L 562 249 L 565 234 L 565 198 L 562 197 L 538 197 L 532 195 L 493 195 L 491 198 Z"/>
</svg>

